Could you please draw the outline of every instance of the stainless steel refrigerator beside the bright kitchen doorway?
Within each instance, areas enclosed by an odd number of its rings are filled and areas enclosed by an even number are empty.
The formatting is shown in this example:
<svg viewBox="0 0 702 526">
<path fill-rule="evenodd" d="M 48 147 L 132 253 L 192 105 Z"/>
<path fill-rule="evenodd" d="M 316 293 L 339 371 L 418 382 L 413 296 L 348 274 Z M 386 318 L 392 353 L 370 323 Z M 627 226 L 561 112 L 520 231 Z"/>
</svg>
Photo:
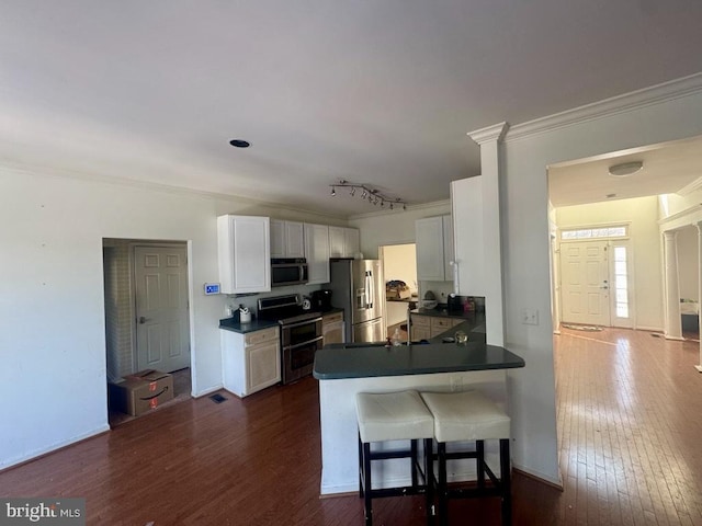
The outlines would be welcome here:
<svg viewBox="0 0 702 526">
<path fill-rule="evenodd" d="M 331 260 L 331 304 L 343 309 L 346 341 L 384 342 L 385 281 L 381 260 Z"/>
</svg>

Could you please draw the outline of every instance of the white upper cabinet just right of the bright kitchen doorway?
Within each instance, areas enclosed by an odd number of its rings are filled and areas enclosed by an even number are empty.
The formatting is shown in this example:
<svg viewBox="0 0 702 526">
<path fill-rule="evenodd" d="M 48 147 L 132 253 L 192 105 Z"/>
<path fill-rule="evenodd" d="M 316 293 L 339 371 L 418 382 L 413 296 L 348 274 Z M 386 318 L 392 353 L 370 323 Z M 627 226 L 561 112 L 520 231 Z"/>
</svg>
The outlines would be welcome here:
<svg viewBox="0 0 702 526">
<path fill-rule="evenodd" d="M 417 279 L 450 282 L 453 279 L 453 225 L 451 216 L 435 216 L 415 221 Z"/>
</svg>

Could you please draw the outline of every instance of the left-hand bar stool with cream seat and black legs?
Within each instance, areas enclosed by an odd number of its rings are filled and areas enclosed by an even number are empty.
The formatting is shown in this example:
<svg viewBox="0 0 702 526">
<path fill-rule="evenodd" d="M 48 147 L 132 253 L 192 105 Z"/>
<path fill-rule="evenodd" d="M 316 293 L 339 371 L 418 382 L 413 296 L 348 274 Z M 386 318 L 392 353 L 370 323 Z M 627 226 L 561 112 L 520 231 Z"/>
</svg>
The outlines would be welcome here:
<svg viewBox="0 0 702 526">
<path fill-rule="evenodd" d="M 355 397 L 359 421 L 359 493 L 364 498 L 365 524 L 373 524 L 372 500 L 424 493 L 427 523 L 433 521 L 433 466 L 427 454 L 432 451 L 434 421 L 417 391 L 359 392 Z M 423 470 L 419 466 L 419 441 L 423 439 Z M 409 449 L 371 450 L 371 443 L 410 441 Z M 389 458 L 409 458 L 411 484 L 397 488 L 373 489 L 371 461 Z M 419 472 L 422 483 L 419 483 Z"/>
</svg>

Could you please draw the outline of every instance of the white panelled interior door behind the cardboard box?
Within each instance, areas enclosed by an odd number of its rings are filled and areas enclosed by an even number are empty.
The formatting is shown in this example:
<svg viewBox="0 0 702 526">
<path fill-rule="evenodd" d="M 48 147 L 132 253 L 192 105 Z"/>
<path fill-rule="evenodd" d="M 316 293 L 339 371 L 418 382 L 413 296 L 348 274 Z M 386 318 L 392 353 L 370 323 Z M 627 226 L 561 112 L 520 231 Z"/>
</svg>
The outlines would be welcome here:
<svg viewBox="0 0 702 526">
<path fill-rule="evenodd" d="M 190 367 L 185 247 L 136 247 L 136 356 L 138 370 Z"/>
</svg>

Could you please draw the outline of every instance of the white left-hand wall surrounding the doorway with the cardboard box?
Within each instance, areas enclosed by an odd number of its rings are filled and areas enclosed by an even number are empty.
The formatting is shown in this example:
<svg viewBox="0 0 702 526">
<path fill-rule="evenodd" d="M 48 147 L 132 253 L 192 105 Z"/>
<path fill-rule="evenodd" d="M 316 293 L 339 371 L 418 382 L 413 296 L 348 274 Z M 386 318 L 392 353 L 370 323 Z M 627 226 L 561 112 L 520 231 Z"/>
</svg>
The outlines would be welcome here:
<svg viewBox="0 0 702 526">
<path fill-rule="evenodd" d="M 189 241 L 193 392 L 222 386 L 216 217 L 245 201 L 0 169 L 0 468 L 106 431 L 103 238 Z M 310 222 L 338 219 L 285 211 Z"/>
</svg>

